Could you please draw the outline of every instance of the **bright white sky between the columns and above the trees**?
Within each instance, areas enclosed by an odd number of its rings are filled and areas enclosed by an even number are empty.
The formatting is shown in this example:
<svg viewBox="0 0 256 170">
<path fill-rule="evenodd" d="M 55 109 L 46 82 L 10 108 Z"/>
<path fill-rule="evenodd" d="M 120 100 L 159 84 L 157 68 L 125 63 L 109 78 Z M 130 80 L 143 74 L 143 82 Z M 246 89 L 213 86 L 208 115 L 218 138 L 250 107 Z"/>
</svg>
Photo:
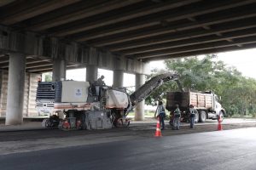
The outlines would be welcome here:
<svg viewBox="0 0 256 170">
<path fill-rule="evenodd" d="M 241 71 L 242 75 L 245 77 L 253 77 L 256 79 L 256 48 L 233 51 L 218 54 L 218 60 L 224 61 L 227 66 L 235 66 L 238 71 Z M 150 70 L 154 68 L 162 69 L 165 68 L 164 61 L 152 61 L 149 63 Z M 67 71 L 67 80 L 77 80 L 85 81 L 86 69 L 76 69 Z M 113 83 L 113 71 L 98 70 L 98 77 L 104 76 L 105 83 L 108 86 L 112 86 Z M 124 74 L 124 87 L 135 86 L 135 75 L 134 74 Z"/>
</svg>

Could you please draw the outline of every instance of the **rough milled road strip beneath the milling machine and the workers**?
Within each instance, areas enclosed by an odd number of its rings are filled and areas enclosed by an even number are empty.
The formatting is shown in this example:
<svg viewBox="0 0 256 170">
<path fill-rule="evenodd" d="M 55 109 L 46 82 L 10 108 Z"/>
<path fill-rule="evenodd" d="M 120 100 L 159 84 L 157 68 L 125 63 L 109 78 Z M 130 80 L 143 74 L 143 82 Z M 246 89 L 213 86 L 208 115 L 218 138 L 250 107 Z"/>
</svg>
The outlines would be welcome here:
<svg viewBox="0 0 256 170">
<path fill-rule="evenodd" d="M 0 125 L 0 155 L 30 152 L 34 150 L 49 150 L 67 148 L 80 145 L 103 144 L 129 140 L 154 138 L 156 120 L 145 122 L 131 122 L 128 128 L 112 128 L 103 130 L 61 131 L 59 129 L 45 129 L 41 122 L 26 122 L 21 126 Z M 256 127 L 256 120 L 226 119 L 224 130 Z M 189 133 L 212 132 L 217 130 L 216 121 L 198 123 L 194 129 L 188 123 L 183 123 L 180 130 L 172 130 L 166 122 L 166 129 L 162 136 L 175 136 Z"/>
</svg>

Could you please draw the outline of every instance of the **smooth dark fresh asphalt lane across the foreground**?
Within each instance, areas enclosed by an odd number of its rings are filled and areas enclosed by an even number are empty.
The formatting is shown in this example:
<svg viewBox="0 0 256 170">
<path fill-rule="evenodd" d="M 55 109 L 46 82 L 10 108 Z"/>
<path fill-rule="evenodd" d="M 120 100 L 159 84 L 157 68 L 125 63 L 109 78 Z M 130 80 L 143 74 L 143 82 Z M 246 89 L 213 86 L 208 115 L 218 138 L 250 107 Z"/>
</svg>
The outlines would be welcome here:
<svg viewBox="0 0 256 170">
<path fill-rule="evenodd" d="M 0 169 L 255 170 L 256 128 L 1 155 Z M 1 147 L 1 146 L 0 146 Z"/>
</svg>

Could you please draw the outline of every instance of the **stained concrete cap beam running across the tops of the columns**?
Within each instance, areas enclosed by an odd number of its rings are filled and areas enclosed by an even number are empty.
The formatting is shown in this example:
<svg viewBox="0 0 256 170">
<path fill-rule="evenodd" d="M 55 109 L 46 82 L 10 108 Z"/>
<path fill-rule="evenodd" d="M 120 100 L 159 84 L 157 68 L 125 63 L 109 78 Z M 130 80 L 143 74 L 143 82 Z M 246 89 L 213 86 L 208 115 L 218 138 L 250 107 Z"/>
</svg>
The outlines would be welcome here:
<svg viewBox="0 0 256 170">
<path fill-rule="evenodd" d="M 77 42 L 63 42 L 58 38 L 44 37 L 30 31 L 12 31 L 7 26 L 0 26 L 1 31 L 6 33 L 0 35 L 0 51 L 4 52 L 3 54 L 9 52 L 24 53 L 30 56 L 27 59 L 28 64 L 51 61 L 57 59 L 58 56 L 63 56 L 67 64 L 84 67 L 86 65 L 96 65 L 98 68 L 116 69 L 113 61 L 119 58 L 119 55 L 111 54 L 108 51 L 90 48 Z M 130 65 L 130 63 L 133 64 Z M 143 65 L 143 62 L 123 58 L 122 68 L 124 71 L 140 73 L 139 65 Z M 42 68 L 41 71 L 50 70 L 48 67 L 39 67 L 27 69 L 27 71 L 40 72 L 40 68 Z"/>
</svg>

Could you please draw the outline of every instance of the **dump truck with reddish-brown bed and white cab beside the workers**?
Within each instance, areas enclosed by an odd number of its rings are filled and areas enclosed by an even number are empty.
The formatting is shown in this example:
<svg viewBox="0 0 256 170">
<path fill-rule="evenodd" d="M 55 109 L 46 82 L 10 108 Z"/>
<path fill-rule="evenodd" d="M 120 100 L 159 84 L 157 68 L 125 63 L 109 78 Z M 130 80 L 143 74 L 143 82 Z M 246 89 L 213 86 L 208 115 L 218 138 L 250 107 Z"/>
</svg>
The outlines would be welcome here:
<svg viewBox="0 0 256 170">
<path fill-rule="evenodd" d="M 181 120 L 189 121 L 189 105 L 194 105 L 198 111 L 195 122 L 205 122 L 206 119 L 223 120 L 225 111 L 218 102 L 218 96 L 213 91 L 208 92 L 169 92 L 166 98 L 166 110 L 171 113 L 179 106 L 182 112 Z"/>
</svg>

